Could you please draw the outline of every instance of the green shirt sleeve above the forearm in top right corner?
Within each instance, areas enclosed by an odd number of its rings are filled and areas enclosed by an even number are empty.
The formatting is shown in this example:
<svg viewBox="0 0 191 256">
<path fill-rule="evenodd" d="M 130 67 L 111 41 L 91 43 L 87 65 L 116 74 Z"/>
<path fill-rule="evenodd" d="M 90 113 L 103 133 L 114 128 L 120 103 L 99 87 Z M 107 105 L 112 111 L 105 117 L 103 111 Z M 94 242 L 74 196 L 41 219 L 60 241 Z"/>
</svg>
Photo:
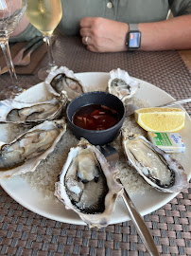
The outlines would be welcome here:
<svg viewBox="0 0 191 256">
<path fill-rule="evenodd" d="M 191 14 L 191 0 L 168 0 L 174 16 Z"/>
</svg>

